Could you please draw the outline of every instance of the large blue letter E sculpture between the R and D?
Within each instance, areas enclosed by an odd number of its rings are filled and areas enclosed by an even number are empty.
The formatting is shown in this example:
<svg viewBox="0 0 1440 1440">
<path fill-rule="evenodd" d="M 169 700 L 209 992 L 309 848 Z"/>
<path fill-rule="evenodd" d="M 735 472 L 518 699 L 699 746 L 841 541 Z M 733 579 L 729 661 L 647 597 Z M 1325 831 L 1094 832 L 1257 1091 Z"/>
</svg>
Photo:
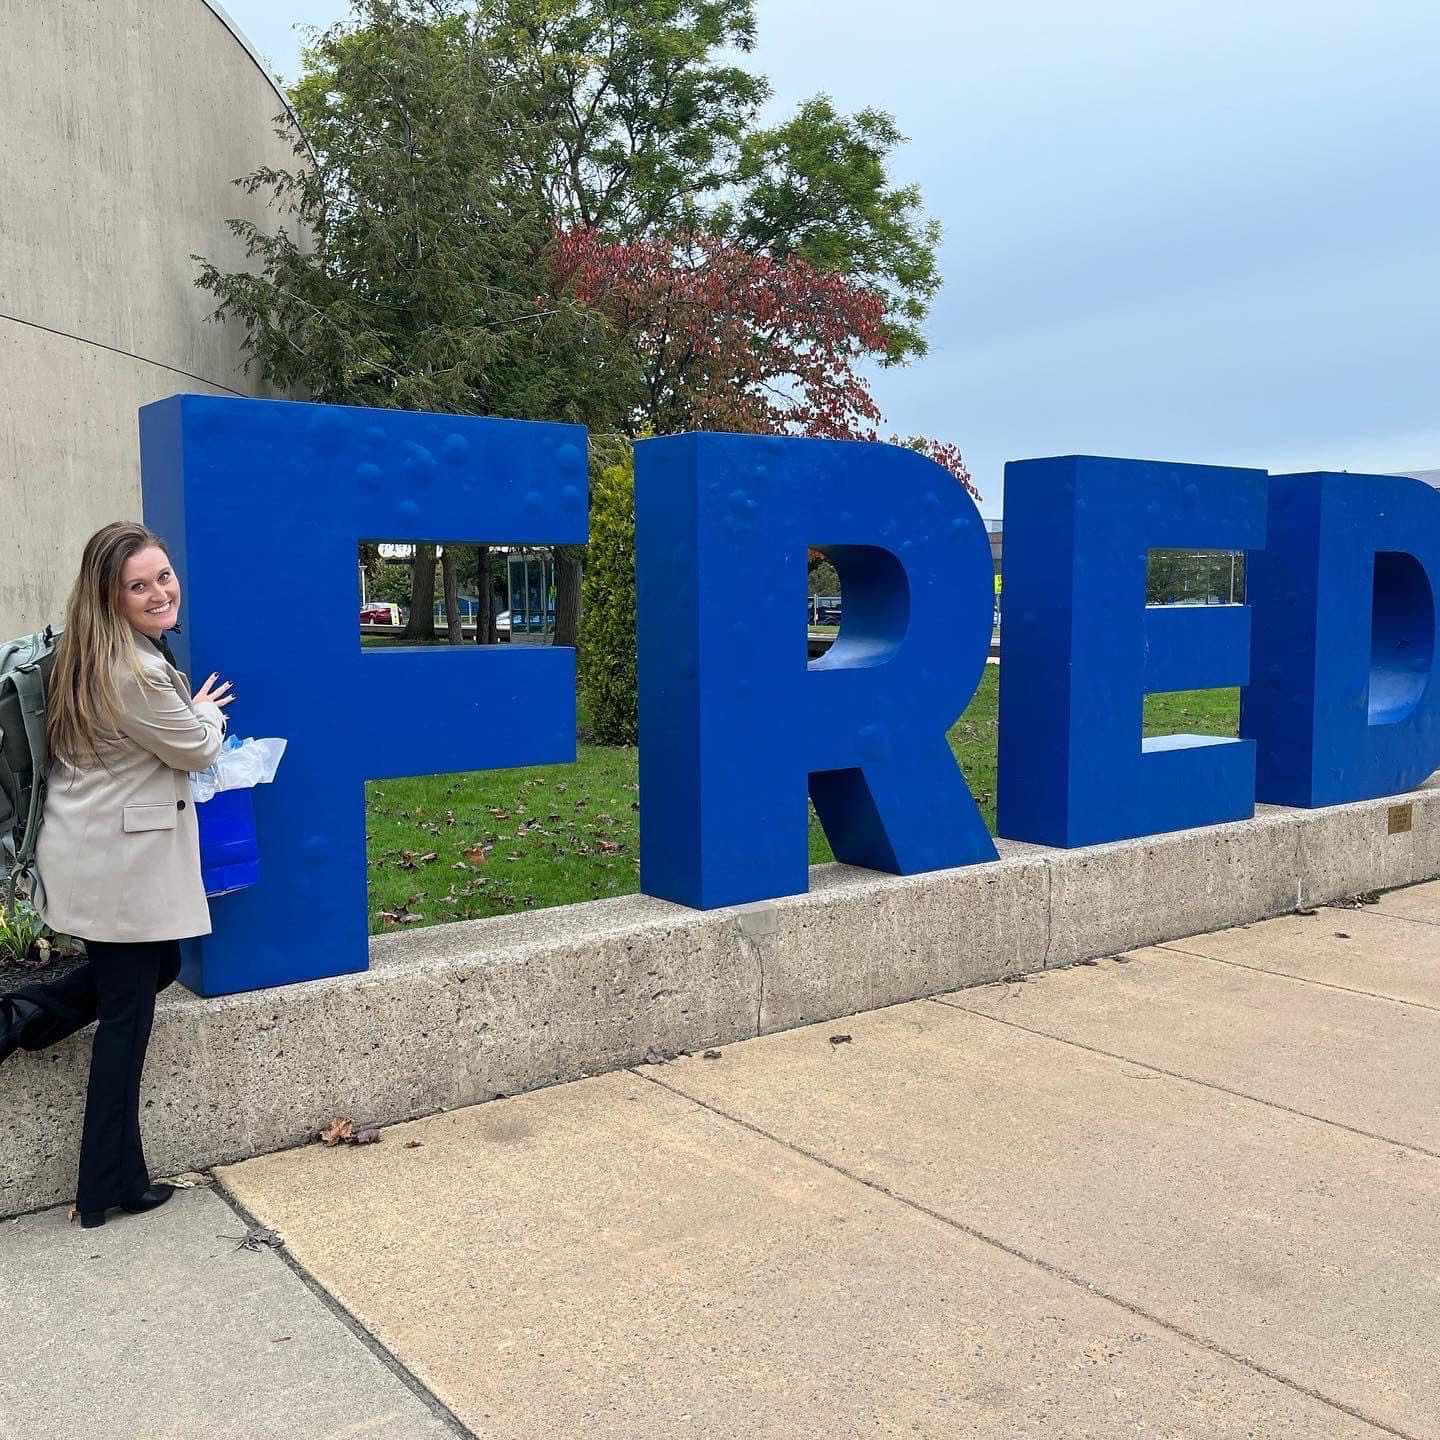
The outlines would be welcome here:
<svg viewBox="0 0 1440 1440">
<path fill-rule="evenodd" d="M 1264 544 L 1264 471 L 1005 467 L 998 829 L 1092 845 L 1254 814 L 1254 744 L 1142 740 L 1145 696 L 1248 678 L 1248 609 L 1146 606 L 1152 549 Z"/>
</svg>

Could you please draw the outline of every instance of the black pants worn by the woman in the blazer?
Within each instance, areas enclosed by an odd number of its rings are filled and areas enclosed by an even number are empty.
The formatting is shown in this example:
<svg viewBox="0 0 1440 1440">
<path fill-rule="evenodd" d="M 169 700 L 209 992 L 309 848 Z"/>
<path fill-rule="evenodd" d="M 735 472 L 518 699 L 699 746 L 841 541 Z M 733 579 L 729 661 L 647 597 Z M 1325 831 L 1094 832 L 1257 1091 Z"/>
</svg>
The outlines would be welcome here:
<svg viewBox="0 0 1440 1440">
<path fill-rule="evenodd" d="M 145 1068 L 156 995 L 180 973 L 179 940 L 111 945 L 86 940 L 86 962 L 49 985 L 13 994 L 43 1011 L 26 1025 L 20 1044 L 43 1050 L 99 1020 L 91 1051 L 81 1178 L 81 1211 L 124 1205 L 150 1185 L 140 1143 L 140 1076 Z"/>
</svg>

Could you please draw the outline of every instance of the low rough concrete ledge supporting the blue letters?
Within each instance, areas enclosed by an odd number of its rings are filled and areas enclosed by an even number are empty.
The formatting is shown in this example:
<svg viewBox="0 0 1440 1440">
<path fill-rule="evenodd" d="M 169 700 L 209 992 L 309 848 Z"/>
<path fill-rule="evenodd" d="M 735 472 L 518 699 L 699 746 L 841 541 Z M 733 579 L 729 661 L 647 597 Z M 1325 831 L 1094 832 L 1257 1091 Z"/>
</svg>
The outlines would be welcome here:
<svg viewBox="0 0 1440 1440">
<path fill-rule="evenodd" d="M 1390 811 L 1413 827 L 1390 834 Z M 301 1145 L 1004 975 L 1440 876 L 1440 789 L 891 877 L 701 913 L 647 896 L 380 936 L 370 969 L 161 999 L 144 1128 L 157 1175 Z M 88 1035 L 0 1071 L 0 1215 L 69 1200 Z"/>
</svg>

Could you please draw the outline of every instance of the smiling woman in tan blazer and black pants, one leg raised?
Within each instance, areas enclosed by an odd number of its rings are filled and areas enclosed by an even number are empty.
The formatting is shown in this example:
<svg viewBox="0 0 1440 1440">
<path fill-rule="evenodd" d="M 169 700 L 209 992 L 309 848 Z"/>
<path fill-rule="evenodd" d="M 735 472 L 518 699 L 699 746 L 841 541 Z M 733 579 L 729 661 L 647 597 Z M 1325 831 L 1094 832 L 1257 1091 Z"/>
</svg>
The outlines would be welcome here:
<svg viewBox="0 0 1440 1440">
<path fill-rule="evenodd" d="M 91 536 L 50 674 L 35 897 L 52 929 L 85 940 L 86 963 L 0 998 L 0 1060 L 99 1020 L 75 1200 L 88 1228 L 174 1194 L 145 1169 L 140 1076 L 179 942 L 210 932 L 187 772 L 220 753 L 235 698 L 215 675 L 190 697 L 164 641 L 179 611 L 158 536 L 124 521 Z"/>
</svg>

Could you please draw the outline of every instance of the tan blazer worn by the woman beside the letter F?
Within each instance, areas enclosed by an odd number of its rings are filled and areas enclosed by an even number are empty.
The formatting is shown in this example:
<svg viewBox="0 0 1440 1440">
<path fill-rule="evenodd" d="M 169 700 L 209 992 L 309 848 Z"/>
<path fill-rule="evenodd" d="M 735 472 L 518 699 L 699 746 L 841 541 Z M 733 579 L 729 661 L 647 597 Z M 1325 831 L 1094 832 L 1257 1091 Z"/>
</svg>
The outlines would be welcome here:
<svg viewBox="0 0 1440 1440">
<path fill-rule="evenodd" d="M 200 831 L 190 770 L 220 753 L 219 706 L 137 635 L 150 684 L 115 672 L 121 737 L 102 766 L 55 760 L 35 863 L 36 909 L 50 929 L 84 940 L 179 940 L 210 933 L 200 881 Z M 158 684 L 160 688 L 154 688 Z"/>
</svg>

